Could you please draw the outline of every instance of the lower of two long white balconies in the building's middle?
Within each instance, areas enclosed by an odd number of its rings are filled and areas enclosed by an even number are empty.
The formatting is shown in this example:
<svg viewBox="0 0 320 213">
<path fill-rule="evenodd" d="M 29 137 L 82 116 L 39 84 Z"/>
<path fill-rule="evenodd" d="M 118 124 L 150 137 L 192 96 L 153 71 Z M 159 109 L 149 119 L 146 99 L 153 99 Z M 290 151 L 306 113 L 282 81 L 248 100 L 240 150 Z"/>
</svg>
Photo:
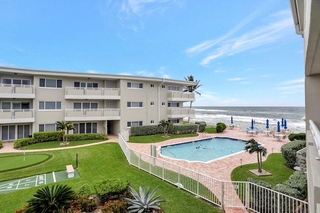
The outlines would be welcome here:
<svg viewBox="0 0 320 213">
<path fill-rule="evenodd" d="M 65 121 L 120 120 L 119 109 L 65 109 Z"/>
</svg>

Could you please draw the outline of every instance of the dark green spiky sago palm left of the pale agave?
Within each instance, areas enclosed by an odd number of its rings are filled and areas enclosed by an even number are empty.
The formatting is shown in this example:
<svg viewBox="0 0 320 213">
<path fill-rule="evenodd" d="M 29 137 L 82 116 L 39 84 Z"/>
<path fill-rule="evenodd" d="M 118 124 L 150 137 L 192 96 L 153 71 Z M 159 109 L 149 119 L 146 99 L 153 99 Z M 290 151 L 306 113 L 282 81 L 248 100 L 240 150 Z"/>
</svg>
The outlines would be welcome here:
<svg viewBox="0 0 320 213">
<path fill-rule="evenodd" d="M 51 189 L 45 186 L 38 189 L 28 201 L 25 213 L 48 213 L 70 207 L 70 200 L 73 199 L 71 187 L 66 185 L 52 185 Z"/>
</svg>

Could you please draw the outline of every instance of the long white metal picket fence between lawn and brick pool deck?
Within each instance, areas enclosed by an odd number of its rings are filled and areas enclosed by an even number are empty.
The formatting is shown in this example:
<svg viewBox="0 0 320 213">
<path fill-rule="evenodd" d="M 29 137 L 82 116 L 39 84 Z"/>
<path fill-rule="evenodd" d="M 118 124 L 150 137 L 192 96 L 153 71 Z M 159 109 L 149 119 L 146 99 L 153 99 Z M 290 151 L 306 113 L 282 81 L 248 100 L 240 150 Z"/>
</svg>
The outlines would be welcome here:
<svg viewBox="0 0 320 213">
<path fill-rule="evenodd" d="M 239 207 L 256 213 L 307 213 L 300 201 L 250 182 L 220 181 L 184 167 L 131 150 L 119 133 L 119 145 L 129 164 L 169 182 L 220 208 Z"/>
</svg>

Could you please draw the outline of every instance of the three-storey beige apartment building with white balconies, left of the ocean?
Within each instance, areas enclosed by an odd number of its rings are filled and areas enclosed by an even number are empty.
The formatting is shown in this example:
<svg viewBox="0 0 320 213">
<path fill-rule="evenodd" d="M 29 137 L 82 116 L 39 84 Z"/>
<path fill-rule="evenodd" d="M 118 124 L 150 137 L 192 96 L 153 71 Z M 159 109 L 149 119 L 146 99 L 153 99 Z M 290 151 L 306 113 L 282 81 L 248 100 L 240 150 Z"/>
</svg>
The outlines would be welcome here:
<svg viewBox="0 0 320 213">
<path fill-rule="evenodd" d="M 181 76 L 182 77 L 182 76 Z M 76 133 L 117 134 L 131 126 L 182 124 L 195 116 L 182 92 L 195 82 L 155 77 L 0 66 L 0 140 L 31 137 L 69 121 Z"/>
</svg>

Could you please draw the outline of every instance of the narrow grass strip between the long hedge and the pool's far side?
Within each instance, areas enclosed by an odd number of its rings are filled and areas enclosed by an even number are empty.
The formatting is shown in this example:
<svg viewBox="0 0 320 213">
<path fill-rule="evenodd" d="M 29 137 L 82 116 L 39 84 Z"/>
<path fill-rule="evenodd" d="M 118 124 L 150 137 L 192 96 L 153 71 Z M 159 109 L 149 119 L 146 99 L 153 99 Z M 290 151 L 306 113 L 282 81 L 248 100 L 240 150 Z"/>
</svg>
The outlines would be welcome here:
<svg viewBox="0 0 320 213">
<path fill-rule="evenodd" d="M 166 141 L 173 138 L 186 138 L 186 137 L 195 137 L 198 136 L 197 133 L 190 134 L 181 134 L 181 135 L 173 135 L 168 134 L 169 137 L 163 138 L 164 134 L 156 134 L 156 135 L 146 135 L 146 136 L 129 136 L 129 143 L 157 143 L 161 141 Z"/>
</svg>

